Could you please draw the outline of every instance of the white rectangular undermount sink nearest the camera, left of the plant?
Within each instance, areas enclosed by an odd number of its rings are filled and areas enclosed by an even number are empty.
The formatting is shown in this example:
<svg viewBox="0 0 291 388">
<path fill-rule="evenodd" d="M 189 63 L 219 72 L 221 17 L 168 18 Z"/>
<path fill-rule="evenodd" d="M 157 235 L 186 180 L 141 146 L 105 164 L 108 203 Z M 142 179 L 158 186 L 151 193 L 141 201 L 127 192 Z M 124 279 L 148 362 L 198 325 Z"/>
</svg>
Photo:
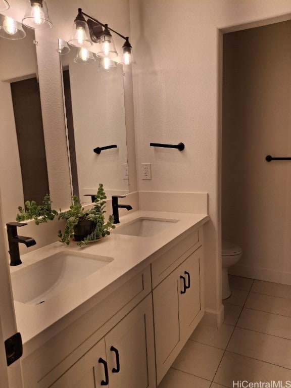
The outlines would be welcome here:
<svg viewBox="0 0 291 388">
<path fill-rule="evenodd" d="M 38 305 L 113 261 L 112 257 L 62 251 L 11 274 L 14 300 Z"/>
</svg>

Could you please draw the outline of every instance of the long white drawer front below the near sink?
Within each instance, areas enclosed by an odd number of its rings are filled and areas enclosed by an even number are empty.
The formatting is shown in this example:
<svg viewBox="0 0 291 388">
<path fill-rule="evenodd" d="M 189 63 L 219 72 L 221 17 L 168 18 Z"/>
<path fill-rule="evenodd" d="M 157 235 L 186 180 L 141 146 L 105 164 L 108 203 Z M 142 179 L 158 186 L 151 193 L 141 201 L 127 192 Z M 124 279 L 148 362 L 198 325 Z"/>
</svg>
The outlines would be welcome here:
<svg viewBox="0 0 291 388">
<path fill-rule="evenodd" d="M 147 267 L 22 359 L 24 388 L 50 386 L 47 377 L 52 369 L 61 375 L 150 292 L 151 271 Z"/>
</svg>

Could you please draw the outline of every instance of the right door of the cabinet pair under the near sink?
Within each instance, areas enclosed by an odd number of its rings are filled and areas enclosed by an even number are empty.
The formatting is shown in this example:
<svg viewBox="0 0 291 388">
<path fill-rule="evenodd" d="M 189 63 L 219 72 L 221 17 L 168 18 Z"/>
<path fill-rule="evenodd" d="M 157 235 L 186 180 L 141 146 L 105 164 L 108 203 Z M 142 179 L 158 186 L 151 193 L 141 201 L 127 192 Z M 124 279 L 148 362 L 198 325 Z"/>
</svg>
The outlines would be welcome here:
<svg viewBox="0 0 291 388">
<path fill-rule="evenodd" d="M 105 336 L 110 388 L 154 388 L 152 299 L 140 302 Z"/>
</svg>

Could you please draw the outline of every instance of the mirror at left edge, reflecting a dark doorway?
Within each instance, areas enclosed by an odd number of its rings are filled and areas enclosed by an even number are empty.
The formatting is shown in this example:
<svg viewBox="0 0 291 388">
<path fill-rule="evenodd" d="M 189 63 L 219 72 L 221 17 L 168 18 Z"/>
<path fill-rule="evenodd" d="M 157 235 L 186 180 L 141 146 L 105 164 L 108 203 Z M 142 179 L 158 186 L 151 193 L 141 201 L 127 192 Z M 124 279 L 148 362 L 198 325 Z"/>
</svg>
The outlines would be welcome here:
<svg viewBox="0 0 291 388">
<path fill-rule="evenodd" d="M 4 223 L 15 220 L 18 206 L 42 204 L 49 192 L 42 128 L 34 31 L 20 40 L 0 37 L 2 104 L 0 189 Z"/>
</svg>

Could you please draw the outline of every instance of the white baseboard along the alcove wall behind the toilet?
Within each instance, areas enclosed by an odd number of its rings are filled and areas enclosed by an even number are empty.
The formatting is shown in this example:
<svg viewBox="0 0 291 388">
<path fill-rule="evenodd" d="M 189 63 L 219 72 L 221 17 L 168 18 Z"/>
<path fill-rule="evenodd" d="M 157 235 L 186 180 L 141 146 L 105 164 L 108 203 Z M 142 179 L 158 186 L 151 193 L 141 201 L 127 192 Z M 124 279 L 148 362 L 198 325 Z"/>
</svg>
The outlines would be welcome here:
<svg viewBox="0 0 291 388">
<path fill-rule="evenodd" d="M 229 268 L 229 274 L 291 285 L 291 273 L 287 271 L 237 264 Z"/>
</svg>

